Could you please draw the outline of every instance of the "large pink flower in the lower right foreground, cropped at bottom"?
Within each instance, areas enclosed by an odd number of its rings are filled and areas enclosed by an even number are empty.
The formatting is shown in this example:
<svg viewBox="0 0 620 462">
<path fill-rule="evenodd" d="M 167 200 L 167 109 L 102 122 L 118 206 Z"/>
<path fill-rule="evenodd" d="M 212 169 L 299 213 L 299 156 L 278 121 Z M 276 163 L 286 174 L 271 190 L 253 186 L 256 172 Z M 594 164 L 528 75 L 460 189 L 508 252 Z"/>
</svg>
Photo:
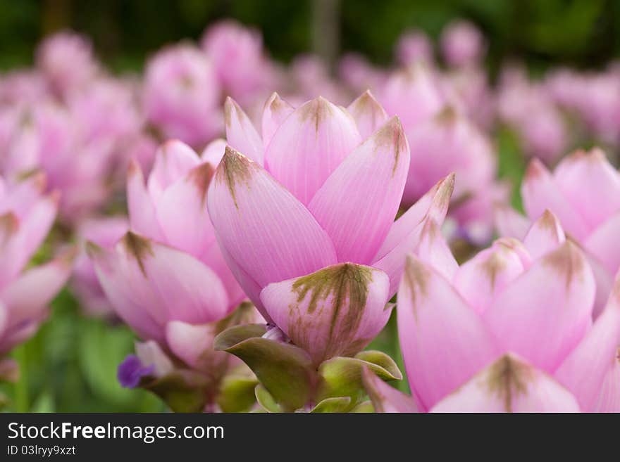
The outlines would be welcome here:
<svg viewBox="0 0 620 462">
<path fill-rule="evenodd" d="M 501 238 L 461 267 L 440 240 L 432 227 L 423 234 L 398 293 L 412 399 L 389 390 L 379 404 L 436 412 L 620 411 L 620 280 L 593 323 L 593 273 L 551 212 L 523 243 Z M 377 380 L 368 385 L 385 388 Z"/>
</svg>

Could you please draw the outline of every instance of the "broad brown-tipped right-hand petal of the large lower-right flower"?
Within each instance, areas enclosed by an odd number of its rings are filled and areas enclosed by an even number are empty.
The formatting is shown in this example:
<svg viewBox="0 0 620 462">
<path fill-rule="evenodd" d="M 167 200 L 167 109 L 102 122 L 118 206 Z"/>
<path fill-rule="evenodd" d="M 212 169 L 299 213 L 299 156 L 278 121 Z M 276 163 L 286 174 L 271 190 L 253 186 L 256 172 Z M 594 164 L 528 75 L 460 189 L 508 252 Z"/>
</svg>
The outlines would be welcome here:
<svg viewBox="0 0 620 462">
<path fill-rule="evenodd" d="M 594 295 L 583 252 L 566 240 L 495 297 L 483 316 L 504 349 L 553 372 L 590 326 Z"/>
</svg>

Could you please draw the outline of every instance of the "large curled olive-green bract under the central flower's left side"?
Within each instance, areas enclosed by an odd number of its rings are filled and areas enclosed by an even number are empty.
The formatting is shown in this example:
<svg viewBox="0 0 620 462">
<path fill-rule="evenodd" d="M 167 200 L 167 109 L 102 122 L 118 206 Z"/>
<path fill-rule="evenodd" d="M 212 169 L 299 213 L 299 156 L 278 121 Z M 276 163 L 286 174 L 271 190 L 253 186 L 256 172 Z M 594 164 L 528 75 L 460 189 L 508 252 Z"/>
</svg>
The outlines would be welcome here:
<svg viewBox="0 0 620 462">
<path fill-rule="evenodd" d="M 318 377 L 309 354 L 289 343 L 261 338 L 263 326 L 235 326 L 219 334 L 216 349 L 242 359 L 285 411 L 304 406 Z"/>
</svg>

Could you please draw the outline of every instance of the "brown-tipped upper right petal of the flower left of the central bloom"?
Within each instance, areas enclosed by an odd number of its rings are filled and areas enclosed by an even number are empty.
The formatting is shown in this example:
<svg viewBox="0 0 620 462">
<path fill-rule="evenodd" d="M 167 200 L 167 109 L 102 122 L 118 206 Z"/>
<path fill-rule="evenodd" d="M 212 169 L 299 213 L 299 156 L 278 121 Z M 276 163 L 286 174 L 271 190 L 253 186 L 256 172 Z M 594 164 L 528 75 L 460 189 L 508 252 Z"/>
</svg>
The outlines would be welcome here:
<svg viewBox="0 0 620 462">
<path fill-rule="evenodd" d="M 209 163 L 194 167 L 168 186 L 155 204 L 165 242 L 194 256 L 206 252 L 216 239 L 206 210 L 206 191 L 214 172 Z"/>
</svg>

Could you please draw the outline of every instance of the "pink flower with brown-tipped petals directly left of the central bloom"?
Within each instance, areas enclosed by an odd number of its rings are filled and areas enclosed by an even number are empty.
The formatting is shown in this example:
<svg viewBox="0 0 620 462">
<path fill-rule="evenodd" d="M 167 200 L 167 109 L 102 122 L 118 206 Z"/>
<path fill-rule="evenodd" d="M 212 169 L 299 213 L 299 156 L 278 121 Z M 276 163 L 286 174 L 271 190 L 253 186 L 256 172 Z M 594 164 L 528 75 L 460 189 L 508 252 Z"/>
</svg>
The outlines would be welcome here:
<svg viewBox="0 0 620 462">
<path fill-rule="evenodd" d="M 210 323 L 227 316 L 244 297 L 223 261 L 206 210 L 214 170 L 180 141 L 161 146 L 147 184 L 132 162 L 131 231 L 112 248 L 87 245 L 118 316 L 142 339 L 167 345 L 180 358 L 182 348 L 191 347 L 177 345 L 183 331 L 211 329 Z"/>
</svg>

